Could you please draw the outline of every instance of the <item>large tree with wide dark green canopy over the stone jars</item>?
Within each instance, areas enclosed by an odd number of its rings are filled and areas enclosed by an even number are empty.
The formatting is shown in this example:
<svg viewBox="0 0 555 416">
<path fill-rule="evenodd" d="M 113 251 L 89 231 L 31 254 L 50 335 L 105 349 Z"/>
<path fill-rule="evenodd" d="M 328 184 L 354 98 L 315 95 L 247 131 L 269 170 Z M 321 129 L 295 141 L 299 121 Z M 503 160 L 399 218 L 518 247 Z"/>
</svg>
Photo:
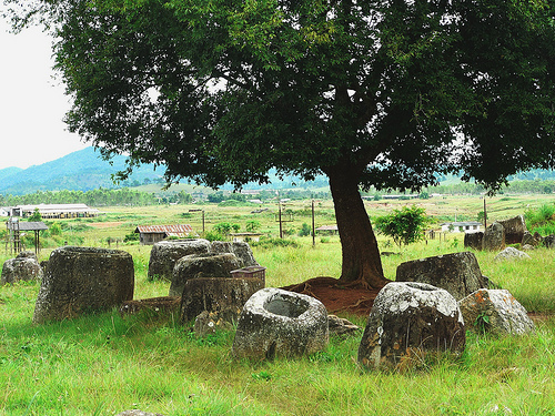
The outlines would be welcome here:
<svg viewBox="0 0 555 416">
<path fill-rule="evenodd" d="M 342 283 L 386 283 L 361 187 L 555 165 L 552 0 L 7 1 L 52 28 L 69 128 L 105 156 L 211 186 L 327 175 Z"/>
</svg>

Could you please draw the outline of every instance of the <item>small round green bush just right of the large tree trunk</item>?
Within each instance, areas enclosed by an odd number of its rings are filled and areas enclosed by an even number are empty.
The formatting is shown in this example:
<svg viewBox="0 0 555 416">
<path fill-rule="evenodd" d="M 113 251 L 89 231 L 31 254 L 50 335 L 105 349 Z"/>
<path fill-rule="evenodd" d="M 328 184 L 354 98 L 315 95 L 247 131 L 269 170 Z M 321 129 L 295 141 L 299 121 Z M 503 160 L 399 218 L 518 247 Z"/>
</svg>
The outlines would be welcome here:
<svg viewBox="0 0 555 416">
<path fill-rule="evenodd" d="M 374 225 L 380 233 L 392 237 L 401 247 L 402 244 L 407 245 L 422 240 L 428 222 L 425 210 L 412 205 L 394 210 L 389 215 L 376 217 Z"/>
</svg>

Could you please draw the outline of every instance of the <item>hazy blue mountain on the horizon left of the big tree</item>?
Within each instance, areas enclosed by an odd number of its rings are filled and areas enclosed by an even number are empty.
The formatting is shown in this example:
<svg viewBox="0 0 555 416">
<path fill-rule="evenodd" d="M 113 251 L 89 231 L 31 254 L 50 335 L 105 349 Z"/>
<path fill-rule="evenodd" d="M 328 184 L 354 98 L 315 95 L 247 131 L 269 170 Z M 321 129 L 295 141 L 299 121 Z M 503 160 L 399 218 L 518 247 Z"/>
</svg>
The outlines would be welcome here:
<svg viewBox="0 0 555 416">
<path fill-rule="evenodd" d="M 7 168 L 0 170 L 0 193 L 23 195 L 37 191 L 89 191 L 98 187 L 115 187 L 112 174 L 125 166 L 125 156 L 117 155 L 110 162 L 101 159 L 94 148 L 87 148 L 52 162 L 28 169 Z M 154 165 L 138 168 L 130 183 L 139 184 L 145 179 L 154 181 L 163 176 L 163 169 Z"/>
</svg>

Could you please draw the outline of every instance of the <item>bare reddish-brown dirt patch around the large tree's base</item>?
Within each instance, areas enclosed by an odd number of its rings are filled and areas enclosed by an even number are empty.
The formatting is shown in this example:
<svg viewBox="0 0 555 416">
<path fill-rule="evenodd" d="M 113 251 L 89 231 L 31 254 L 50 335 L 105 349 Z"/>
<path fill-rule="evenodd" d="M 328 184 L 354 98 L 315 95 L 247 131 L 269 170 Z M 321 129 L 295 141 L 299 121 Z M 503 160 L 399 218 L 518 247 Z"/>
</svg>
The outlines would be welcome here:
<svg viewBox="0 0 555 416">
<path fill-rule="evenodd" d="M 346 312 L 359 316 L 369 316 L 380 292 L 380 290 L 369 290 L 362 284 L 345 286 L 333 277 L 314 277 L 282 288 L 317 298 L 329 313 Z"/>
</svg>

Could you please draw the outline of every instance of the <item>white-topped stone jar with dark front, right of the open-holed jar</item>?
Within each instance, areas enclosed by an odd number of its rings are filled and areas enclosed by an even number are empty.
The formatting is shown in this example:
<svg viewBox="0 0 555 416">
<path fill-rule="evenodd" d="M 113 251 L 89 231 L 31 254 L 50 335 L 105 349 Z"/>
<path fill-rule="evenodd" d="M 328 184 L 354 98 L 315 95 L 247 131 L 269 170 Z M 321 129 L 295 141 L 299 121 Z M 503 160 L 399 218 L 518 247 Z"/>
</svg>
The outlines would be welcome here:
<svg viewBox="0 0 555 416">
<path fill-rule="evenodd" d="M 424 283 L 389 283 L 377 294 L 359 347 L 365 367 L 402 369 L 428 352 L 463 352 L 466 334 L 455 298 Z"/>
</svg>

